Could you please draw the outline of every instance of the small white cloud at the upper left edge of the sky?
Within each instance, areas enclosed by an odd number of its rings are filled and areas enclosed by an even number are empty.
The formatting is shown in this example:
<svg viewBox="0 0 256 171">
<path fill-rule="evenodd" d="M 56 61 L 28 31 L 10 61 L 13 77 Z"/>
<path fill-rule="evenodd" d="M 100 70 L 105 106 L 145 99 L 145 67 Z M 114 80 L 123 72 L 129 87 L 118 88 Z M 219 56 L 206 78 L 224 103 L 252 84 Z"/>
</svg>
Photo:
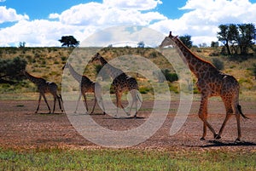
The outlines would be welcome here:
<svg viewBox="0 0 256 171">
<path fill-rule="evenodd" d="M 18 20 L 29 20 L 29 17 L 26 14 L 17 14 L 15 9 L 6 9 L 5 6 L 0 6 L 0 24 Z"/>
</svg>

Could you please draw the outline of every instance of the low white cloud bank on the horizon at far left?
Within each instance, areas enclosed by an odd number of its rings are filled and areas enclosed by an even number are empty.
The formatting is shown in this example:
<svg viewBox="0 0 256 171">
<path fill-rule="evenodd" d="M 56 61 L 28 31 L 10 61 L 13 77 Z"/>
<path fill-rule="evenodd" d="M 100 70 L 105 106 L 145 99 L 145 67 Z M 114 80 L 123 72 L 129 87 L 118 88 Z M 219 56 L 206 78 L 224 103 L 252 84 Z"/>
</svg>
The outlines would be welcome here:
<svg viewBox="0 0 256 171">
<path fill-rule="evenodd" d="M 84 28 L 65 26 L 58 21 L 49 20 L 20 20 L 14 26 L 0 30 L 0 46 L 15 46 L 26 42 L 26 46 L 60 46 L 58 40 L 63 35 L 79 37 Z"/>
</svg>

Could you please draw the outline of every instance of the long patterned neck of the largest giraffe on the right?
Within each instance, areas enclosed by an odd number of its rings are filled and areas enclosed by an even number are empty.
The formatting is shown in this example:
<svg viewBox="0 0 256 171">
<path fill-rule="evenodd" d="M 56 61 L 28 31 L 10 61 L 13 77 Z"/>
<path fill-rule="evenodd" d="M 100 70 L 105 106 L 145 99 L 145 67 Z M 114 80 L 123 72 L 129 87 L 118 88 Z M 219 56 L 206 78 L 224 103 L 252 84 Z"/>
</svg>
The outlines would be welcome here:
<svg viewBox="0 0 256 171">
<path fill-rule="evenodd" d="M 201 77 L 201 74 L 207 70 L 218 71 L 211 63 L 193 54 L 178 38 L 175 38 L 173 41 L 178 48 L 178 53 L 183 54 L 184 62 L 188 64 L 190 71 L 195 74 L 195 77 Z"/>
</svg>

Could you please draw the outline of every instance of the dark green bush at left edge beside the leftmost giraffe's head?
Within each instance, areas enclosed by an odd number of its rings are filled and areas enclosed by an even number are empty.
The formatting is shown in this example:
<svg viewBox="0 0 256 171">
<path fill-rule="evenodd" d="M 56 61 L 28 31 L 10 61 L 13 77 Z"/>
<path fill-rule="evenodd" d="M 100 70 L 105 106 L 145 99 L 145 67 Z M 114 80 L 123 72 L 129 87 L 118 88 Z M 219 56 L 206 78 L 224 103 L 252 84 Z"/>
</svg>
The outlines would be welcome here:
<svg viewBox="0 0 256 171">
<path fill-rule="evenodd" d="M 14 80 L 22 80 L 20 71 L 25 70 L 26 60 L 15 57 L 13 60 L 0 59 L 0 80 L 1 82 L 13 82 Z"/>
</svg>

